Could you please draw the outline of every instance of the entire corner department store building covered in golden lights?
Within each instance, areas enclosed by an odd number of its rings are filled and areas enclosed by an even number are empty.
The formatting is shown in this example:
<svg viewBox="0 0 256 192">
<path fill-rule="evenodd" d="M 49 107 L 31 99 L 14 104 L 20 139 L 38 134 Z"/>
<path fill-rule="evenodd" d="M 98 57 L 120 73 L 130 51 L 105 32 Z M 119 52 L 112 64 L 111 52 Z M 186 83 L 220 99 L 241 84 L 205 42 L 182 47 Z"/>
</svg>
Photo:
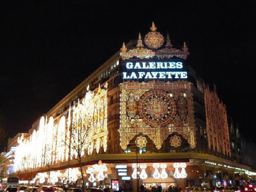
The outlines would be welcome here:
<svg viewBox="0 0 256 192">
<path fill-rule="evenodd" d="M 17 139 L 16 173 L 67 183 L 81 166 L 87 185 L 134 189 L 137 171 L 147 187 L 234 183 L 234 172 L 247 180 L 252 167 L 231 161 L 226 107 L 185 65 L 188 55 L 153 23 Z"/>
</svg>

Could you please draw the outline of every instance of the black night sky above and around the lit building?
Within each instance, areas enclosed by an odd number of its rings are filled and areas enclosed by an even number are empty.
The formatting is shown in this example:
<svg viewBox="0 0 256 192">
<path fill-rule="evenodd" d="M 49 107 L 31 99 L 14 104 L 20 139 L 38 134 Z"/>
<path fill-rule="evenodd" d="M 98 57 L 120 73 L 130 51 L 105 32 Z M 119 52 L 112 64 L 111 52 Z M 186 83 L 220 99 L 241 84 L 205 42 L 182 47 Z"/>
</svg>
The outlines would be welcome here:
<svg viewBox="0 0 256 192">
<path fill-rule="evenodd" d="M 242 133 L 256 137 L 253 1 L 81 2 L 2 3 L 0 114 L 7 137 L 27 132 L 123 41 L 150 31 L 152 22 L 173 42 L 187 42 L 186 65 L 216 84 Z"/>
</svg>

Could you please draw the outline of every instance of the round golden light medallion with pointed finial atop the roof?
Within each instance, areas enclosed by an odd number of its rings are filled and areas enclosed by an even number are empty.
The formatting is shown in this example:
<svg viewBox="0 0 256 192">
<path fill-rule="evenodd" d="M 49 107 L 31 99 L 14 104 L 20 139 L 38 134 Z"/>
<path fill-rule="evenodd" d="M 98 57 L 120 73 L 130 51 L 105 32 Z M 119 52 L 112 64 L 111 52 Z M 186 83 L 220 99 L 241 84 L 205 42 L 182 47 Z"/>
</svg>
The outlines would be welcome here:
<svg viewBox="0 0 256 192">
<path fill-rule="evenodd" d="M 164 38 L 161 33 L 156 32 L 157 28 L 155 27 L 154 22 L 152 23 L 151 30 L 151 32 L 145 35 L 145 44 L 150 48 L 160 48 L 163 45 Z"/>
</svg>

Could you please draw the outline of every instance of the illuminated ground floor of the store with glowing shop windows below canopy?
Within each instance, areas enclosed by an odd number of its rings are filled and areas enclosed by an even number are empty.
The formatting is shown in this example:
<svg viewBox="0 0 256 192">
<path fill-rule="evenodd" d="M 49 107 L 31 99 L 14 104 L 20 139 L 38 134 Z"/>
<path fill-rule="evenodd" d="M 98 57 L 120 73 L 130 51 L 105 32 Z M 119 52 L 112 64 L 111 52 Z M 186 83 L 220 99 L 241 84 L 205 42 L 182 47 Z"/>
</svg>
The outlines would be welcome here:
<svg viewBox="0 0 256 192">
<path fill-rule="evenodd" d="M 82 165 L 87 186 L 109 185 L 114 190 L 122 187 L 136 191 L 137 181 L 139 186 L 143 184 L 151 189 L 161 185 L 167 190 L 170 185 L 179 185 L 181 188 L 193 185 L 239 185 L 255 179 L 250 167 L 212 155 L 190 152 L 138 154 L 138 158 L 136 154 L 99 154 L 85 158 Z M 48 170 L 51 170 L 50 179 Z M 138 180 L 136 173 L 139 175 Z M 32 180 L 35 184 L 82 184 L 74 160 L 56 164 L 49 169 L 20 174 L 20 180 Z"/>
</svg>

